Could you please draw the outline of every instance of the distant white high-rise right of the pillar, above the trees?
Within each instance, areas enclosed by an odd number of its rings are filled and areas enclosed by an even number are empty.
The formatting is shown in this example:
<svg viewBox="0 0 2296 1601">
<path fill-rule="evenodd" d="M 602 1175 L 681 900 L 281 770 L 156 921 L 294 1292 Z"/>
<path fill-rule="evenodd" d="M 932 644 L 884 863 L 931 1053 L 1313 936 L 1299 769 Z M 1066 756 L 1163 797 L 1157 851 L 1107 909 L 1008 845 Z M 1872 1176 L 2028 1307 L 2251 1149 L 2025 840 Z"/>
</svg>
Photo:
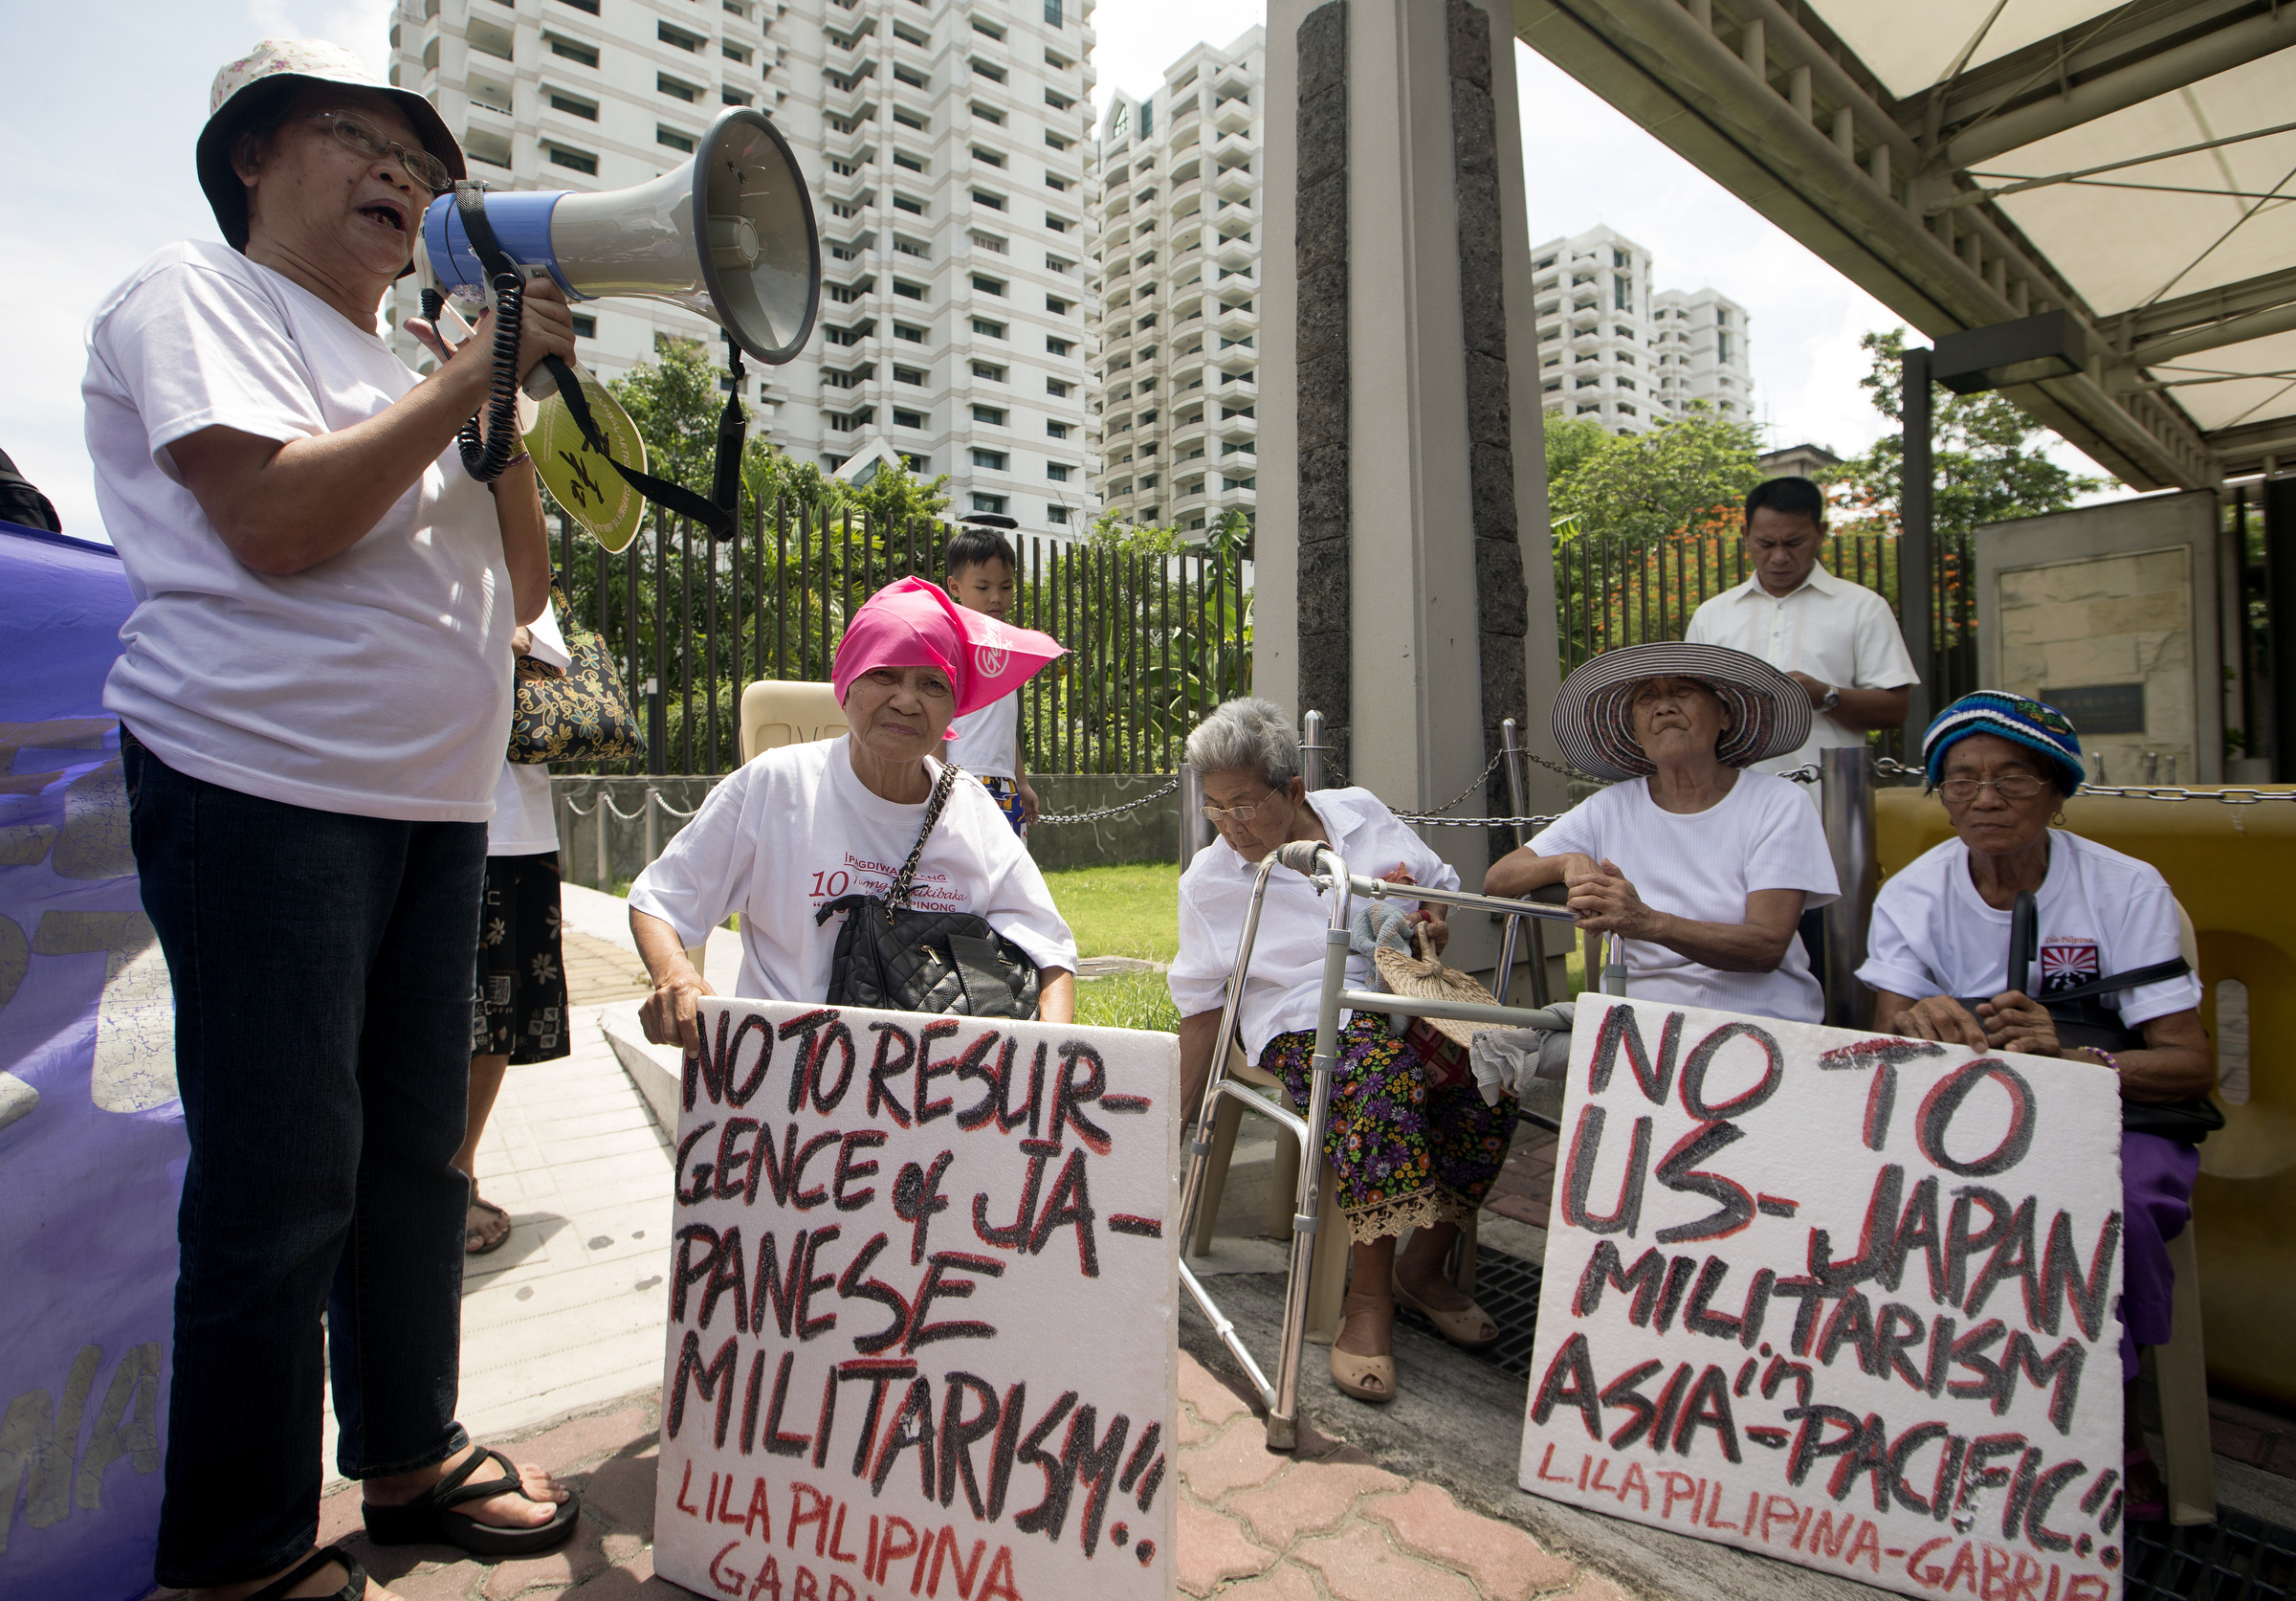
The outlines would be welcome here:
<svg viewBox="0 0 2296 1601">
<path fill-rule="evenodd" d="M 1683 418 L 1692 400 L 1754 420 L 1747 317 L 1713 289 L 1655 289 L 1651 253 L 1609 227 L 1531 253 L 1538 388 L 1548 416 L 1591 416 L 1614 434 Z"/>
</svg>

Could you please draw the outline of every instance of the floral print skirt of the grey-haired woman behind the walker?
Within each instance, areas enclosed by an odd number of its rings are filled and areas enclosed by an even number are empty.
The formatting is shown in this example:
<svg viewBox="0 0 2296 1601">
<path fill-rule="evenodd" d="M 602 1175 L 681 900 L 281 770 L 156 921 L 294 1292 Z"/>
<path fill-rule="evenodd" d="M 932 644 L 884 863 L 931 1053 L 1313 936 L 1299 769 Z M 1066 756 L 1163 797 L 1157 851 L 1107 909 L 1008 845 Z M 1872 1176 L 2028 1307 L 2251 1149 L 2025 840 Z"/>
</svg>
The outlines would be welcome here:
<svg viewBox="0 0 2296 1601">
<path fill-rule="evenodd" d="M 1313 1031 L 1279 1034 L 1261 1068 L 1306 1107 L 1313 1054 Z M 1359 1011 L 1341 1029 L 1322 1153 L 1339 1178 L 1350 1243 L 1472 1220 L 1513 1132 L 1513 1096 L 1486 1107 L 1474 1084 L 1428 1089 L 1419 1052 L 1384 1015 Z"/>
</svg>

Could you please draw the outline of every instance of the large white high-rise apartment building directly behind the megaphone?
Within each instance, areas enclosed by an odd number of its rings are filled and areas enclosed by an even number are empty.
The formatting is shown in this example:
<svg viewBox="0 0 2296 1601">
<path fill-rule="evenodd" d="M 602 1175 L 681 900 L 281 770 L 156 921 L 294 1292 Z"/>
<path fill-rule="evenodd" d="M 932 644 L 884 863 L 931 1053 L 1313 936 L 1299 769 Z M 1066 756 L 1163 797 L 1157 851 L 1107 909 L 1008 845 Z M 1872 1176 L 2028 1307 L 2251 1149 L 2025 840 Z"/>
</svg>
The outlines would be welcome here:
<svg viewBox="0 0 2296 1601">
<path fill-rule="evenodd" d="M 625 188 L 726 106 L 797 152 L 822 232 L 806 351 L 748 365 L 753 434 L 836 469 L 879 441 L 955 510 L 1081 531 L 1093 0 L 402 0 L 390 80 L 496 188 Z M 402 292 L 397 319 L 413 315 Z M 602 377 L 719 331 L 576 305 Z M 427 365 L 411 340 L 409 361 Z"/>
</svg>

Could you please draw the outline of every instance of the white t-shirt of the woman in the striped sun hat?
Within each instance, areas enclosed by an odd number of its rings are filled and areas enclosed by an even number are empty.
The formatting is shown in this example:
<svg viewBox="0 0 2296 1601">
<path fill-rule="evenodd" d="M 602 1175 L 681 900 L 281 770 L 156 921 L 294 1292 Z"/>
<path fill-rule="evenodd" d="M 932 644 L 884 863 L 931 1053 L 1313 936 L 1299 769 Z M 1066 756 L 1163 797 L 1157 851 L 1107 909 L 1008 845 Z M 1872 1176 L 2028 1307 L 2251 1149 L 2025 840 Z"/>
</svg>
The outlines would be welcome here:
<svg viewBox="0 0 2296 1601">
<path fill-rule="evenodd" d="M 1800 786 L 1766 772 L 1740 772 L 1729 795 L 1694 813 L 1662 811 L 1649 779 L 1628 779 L 1541 829 L 1531 850 L 1616 861 L 1644 905 L 1699 923 L 1743 923 L 1745 898 L 1756 889 L 1800 889 L 1805 912 L 1835 903 L 1841 889 L 1818 813 Z M 1784 960 L 1766 974 L 1722 972 L 1662 944 L 1628 939 L 1626 992 L 1786 1022 L 1825 1018 L 1825 992 L 1809 976 L 1800 939 L 1786 939 Z"/>
</svg>

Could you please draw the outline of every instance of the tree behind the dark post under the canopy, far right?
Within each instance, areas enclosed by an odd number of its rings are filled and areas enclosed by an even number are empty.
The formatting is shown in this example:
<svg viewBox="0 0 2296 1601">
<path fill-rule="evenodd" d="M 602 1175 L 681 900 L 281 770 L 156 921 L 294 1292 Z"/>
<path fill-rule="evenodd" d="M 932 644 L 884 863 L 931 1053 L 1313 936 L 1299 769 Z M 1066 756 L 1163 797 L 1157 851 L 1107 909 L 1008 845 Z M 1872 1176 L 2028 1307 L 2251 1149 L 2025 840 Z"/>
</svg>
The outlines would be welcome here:
<svg viewBox="0 0 2296 1601">
<path fill-rule="evenodd" d="M 1857 345 L 1869 370 L 1857 386 L 1896 430 L 1874 441 L 1830 475 L 1844 524 L 1878 521 L 1896 528 L 1906 485 L 1903 393 L 1906 331 L 1867 333 Z M 1938 535 L 1970 535 L 1984 524 L 2011 517 L 2062 512 L 2076 496 L 2103 489 L 2105 478 L 2080 478 L 2041 453 L 2048 430 L 2004 395 L 1931 393 L 1929 450 L 1936 487 L 1931 508 Z"/>
</svg>

